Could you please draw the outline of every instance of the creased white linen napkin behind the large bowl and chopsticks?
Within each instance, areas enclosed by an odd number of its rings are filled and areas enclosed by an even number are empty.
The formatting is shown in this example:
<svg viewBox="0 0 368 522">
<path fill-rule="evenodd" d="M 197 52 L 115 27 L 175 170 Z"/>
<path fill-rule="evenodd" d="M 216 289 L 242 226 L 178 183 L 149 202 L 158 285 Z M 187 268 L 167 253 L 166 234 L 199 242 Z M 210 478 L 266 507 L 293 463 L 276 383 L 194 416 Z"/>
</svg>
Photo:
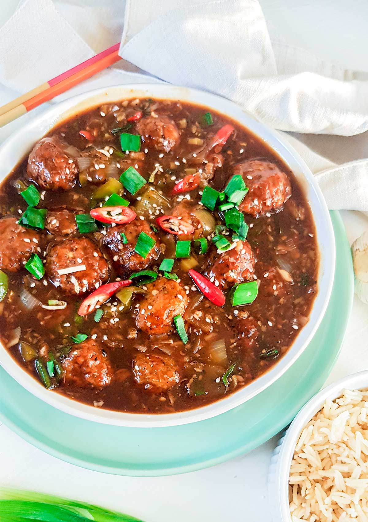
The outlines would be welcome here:
<svg viewBox="0 0 368 522">
<path fill-rule="evenodd" d="M 51 103 L 99 86 L 161 78 L 230 98 L 284 131 L 351 135 L 368 129 L 368 82 L 271 40 L 256 0 L 126 0 L 124 22 L 123 11 L 124 0 L 108 6 L 99 0 L 21 2 L 0 28 L 0 103 L 102 51 L 122 32 L 120 55 L 128 62 Z M 0 129 L 0 140 L 33 114 Z M 317 174 L 330 209 L 368 211 L 368 160 L 337 166 L 284 137 Z"/>
</svg>

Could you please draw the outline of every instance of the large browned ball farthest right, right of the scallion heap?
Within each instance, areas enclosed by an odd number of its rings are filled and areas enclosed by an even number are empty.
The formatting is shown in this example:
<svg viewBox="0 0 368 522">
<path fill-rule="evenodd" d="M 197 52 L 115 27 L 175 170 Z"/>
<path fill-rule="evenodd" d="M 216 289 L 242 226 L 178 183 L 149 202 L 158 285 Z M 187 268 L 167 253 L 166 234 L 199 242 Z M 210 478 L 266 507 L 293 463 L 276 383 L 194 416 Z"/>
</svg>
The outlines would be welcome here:
<svg viewBox="0 0 368 522">
<path fill-rule="evenodd" d="M 245 161 L 235 165 L 234 174 L 240 174 L 249 187 L 239 209 L 251 216 L 280 210 L 291 196 L 288 176 L 271 161 Z"/>
</svg>

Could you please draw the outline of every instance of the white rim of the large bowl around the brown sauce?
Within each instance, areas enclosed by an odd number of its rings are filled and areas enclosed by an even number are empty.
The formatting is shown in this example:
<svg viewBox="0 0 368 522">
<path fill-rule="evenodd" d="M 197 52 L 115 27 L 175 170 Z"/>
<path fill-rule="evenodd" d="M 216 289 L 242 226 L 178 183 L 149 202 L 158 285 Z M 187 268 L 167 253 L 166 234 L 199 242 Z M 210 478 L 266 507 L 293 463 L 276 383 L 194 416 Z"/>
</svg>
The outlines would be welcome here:
<svg viewBox="0 0 368 522">
<path fill-rule="evenodd" d="M 266 374 L 257 378 L 250 385 L 245 386 L 239 392 L 202 408 L 180 413 L 145 415 L 108 411 L 80 404 L 63 395 L 48 392 L 39 382 L 24 372 L 3 347 L 0 347 L 0 364 L 3 368 L 29 392 L 55 408 L 96 422 L 150 428 L 201 421 L 235 408 L 271 385 L 289 368 L 308 345 L 325 313 L 335 272 L 335 238 L 332 222 L 330 221 L 320 188 L 298 153 L 276 132 L 255 121 L 254 118 L 235 103 L 214 94 L 184 87 L 164 84 L 121 85 L 97 89 L 63 101 L 49 111 L 35 117 L 34 120 L 21 127 L 18 132 L 5 141 L 0 149 L 2 176 L 5 177 L 18 161 L 29 152 L 36 141 L 50 131 L 55 124 L 65 120 L 65 118 L 103 103 L 143 97 L 182 100 L 213 108 L 230 118 L 234 118 L 234 120 L 260 137 L 265 144 L 272 147 L 289 165 L 304 187 L 313 213 L 316 226 L 316 240 L 320 249 L 319 291 L 313 303 L 310 321 L 301 329 L 293 345 L 284 357 Z M 2 180 L 0 179 L 0 181 Z"/>
</svg>

